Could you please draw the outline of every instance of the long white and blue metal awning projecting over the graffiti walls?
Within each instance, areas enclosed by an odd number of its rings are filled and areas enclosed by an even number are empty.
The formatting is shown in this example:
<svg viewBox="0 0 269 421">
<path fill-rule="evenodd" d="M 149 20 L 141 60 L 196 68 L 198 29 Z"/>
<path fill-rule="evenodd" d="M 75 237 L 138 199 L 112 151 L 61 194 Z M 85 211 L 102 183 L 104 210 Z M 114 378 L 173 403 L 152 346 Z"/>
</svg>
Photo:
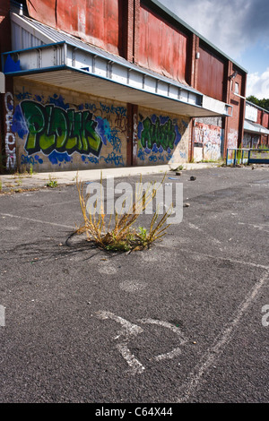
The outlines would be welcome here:
<svg viewBox="0 0 269 421">
<path fill-rule="evenodd" d="M 231 116 L 232 107 L 80 39 L 11 13 L 22 49 L 2 55 L 6 75 L 182 116 Z M 34 44 L 34 45 L 33 45 Z M 14 42 L 13 42 L 14 45 Z"/>
</svg>

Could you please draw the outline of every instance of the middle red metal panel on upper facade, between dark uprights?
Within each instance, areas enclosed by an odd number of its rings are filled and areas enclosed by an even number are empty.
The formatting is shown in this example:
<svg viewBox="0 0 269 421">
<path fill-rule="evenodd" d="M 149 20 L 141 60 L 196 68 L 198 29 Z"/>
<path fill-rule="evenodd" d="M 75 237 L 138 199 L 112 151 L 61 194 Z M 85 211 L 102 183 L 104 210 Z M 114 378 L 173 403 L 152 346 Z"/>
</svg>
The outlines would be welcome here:
<svg viewBox="0 0 269 421">
<path fill-rule="evenodd" d="M 157 73 L 185 82 L 187 35 L 142 6 L 139 30 L 138 63 Z"/>
</svg>

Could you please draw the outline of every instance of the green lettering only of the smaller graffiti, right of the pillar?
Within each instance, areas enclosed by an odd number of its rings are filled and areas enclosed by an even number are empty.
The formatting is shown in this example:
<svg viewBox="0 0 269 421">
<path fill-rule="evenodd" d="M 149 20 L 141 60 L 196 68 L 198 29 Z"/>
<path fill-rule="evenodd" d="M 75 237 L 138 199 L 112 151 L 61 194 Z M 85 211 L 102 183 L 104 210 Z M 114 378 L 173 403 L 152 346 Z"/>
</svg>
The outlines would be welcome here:
<svg viewBox="0 0 269 421">
<path fill-rule="evenodd" d="M 138 137 L 143 148 L 158 148 L 160 152 L 173 150 L 181 139 L 178 125 L 174 123 L 168 116 L 146 117 L 138 127 Z"/>
</svg>

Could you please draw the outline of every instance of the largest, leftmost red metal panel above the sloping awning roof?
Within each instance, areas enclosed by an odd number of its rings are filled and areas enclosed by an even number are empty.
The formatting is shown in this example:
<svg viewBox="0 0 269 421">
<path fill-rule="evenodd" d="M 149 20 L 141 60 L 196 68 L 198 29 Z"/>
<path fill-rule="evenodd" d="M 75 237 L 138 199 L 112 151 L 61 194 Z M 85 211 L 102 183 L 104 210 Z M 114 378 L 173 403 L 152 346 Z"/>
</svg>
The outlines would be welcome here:
<svg viewBox="0 0 269 421">
<path fill-rule="evenodd" d="M 30 16 L 82 40 L 120 54 L 123 0 L 27 0 Z"/>
</svg>

